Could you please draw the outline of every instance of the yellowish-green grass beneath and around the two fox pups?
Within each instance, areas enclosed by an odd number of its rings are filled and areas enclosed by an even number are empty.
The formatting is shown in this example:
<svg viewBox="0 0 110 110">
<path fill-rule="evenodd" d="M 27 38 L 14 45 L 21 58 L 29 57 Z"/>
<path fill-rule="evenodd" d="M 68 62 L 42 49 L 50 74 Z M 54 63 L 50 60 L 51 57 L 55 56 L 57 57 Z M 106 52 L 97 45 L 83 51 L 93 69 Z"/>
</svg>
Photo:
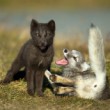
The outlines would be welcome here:
<svg viewBox="0 0 110 110">
<path fill-rule="evenodd" d="M 0 33 L 0 79 L 3 79 L 7 70 L 9 69 L 12 61 L 14 60 L 21 45 L 26 39 L 20 39 L 16 32 L 2 32 Z M 79 39 L 72 40 L 72 45 L 68 39 L 60 44 L 55 39 L 55 60 L 62 57 L 62 49 L 64 47 L 72 49 L 76 48 L 81 50 L 84 55 L 87 55 L 87 45 L 85 42 L 75 45 Z M 82 41 L 82 40 L 81 40 Z M 109 43 L 107 44 L 109 45 Z M 110 45 L 109 45 L 110 46 Z M 109 46 L 106 46 L 106 48 Z M 106 50 L 106 56 L 109 52 Z M 109 51 L 109 49 L 108 49 Z M 110 80 L 110 57 L 107 57 L 107 75 Z M 60 72 L 54 62 L 52 64 L 52 71 Z M 26 92 L 26 82 L 23 80 L 15 81 L 9 85 L 0 85 L 0 110 L 109 110 L 110 99 L 99 100 L 85 100 L 77 97 L 58 97 L 54 96 L 49 89 L 44 92 L 44 97 L 31 97 Z"/>
</svg>

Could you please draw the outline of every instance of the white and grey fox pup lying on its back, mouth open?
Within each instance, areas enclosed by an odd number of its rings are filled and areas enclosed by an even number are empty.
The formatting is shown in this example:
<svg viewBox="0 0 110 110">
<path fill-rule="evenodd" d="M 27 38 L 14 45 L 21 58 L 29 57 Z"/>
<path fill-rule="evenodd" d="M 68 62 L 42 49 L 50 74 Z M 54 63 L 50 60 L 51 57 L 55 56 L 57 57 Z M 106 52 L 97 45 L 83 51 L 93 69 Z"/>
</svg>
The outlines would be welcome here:
<svg viewBox="0 0 110 110">
<path fill-rule="evenodd" d="M 75 95 L 86 99 L 109 97 L 103 38 L 100 29 L 93 24 L 89 30 L 88 49 L 90 65 L 85 62 L 79 51 L 64 49 L 65 58 L 56 62 L 65 66 L 62 75 L 45 72 L 55 94 Z M 63 84 L 63 86 L 56 84 Z"/>
</svg>

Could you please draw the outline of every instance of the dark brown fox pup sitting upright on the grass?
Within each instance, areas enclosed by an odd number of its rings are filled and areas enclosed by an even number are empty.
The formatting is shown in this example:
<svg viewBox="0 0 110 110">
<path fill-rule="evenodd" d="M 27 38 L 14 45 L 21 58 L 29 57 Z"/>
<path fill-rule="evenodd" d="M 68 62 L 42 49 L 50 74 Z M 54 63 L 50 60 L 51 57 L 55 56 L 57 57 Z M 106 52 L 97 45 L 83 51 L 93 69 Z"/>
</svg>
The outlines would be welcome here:
<svg viewBox="0 0 110 110">
<path fill-rule="evenodd" d="M 32 39 L 23 45 L 1 82 L 3 84 L 10 83 L 14 75 L 22 67 L 25 67 L 28 94 L 33 96 L 37 90 L 38 96 L 43 96 L 44 72 L 50 67 L 54 56 L 55 22 L 50 20 L 48 23 L 38 23 L 32 19 L 30 31 Z"/>
</svg>

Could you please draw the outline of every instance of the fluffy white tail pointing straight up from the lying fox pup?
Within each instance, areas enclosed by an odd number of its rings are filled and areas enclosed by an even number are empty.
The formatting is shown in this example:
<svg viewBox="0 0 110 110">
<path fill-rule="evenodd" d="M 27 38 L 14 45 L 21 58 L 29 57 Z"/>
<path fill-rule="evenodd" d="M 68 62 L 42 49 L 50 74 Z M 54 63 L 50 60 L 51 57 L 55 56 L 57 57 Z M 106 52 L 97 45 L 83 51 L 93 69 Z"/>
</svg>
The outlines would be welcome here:
<svg viewBox="0 0 110 110">
<path fill-rule="evenodd" d="M 89 30 L 88 46 L 91 68 L 95 73 L 96 78 L 99 78 L 101 76 L 102 78 L 104 78 L 106 76 L 106 68 L 103 38 L 100 29 L 93 24 L 91 24 Z"/>
</svg>

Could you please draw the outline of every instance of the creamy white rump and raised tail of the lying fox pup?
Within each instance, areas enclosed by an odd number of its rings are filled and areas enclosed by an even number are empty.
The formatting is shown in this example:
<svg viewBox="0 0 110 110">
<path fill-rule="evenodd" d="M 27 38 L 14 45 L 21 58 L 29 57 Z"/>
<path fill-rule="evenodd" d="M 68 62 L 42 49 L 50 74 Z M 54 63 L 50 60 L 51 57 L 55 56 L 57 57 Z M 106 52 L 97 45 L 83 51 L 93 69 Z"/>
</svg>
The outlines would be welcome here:
<svg viewBox="0 0 110 110">
<path fill-rule="evenodd" d="M 82 77 L 77 78 L 76 91 L 79 97 L 97 99 L 101 97 L 106 84 L 103 39 L 98 27 L 90 28 L 88 47 L 91 68 L 96 77 L 86 80 Z"/>
</svg>

